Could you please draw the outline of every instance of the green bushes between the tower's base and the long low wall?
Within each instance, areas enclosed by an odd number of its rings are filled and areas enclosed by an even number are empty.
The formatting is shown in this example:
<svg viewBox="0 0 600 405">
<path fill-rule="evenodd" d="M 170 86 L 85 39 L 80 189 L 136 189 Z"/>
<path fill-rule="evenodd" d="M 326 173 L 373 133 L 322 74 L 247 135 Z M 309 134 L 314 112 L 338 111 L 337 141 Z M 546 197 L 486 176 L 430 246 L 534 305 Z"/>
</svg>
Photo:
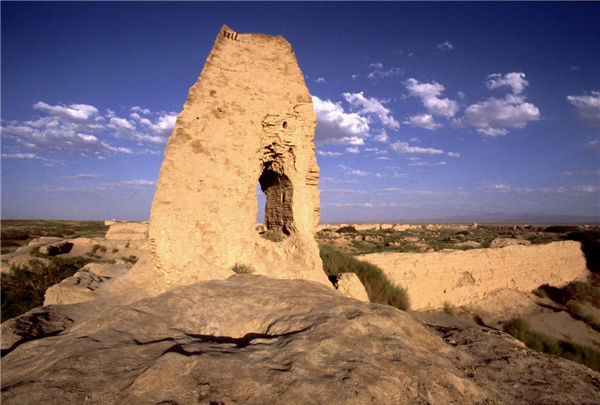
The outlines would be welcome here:
<svg viewBox="0 0 600 405">
<path fill-rule="evenodd" d="M 321 246 L 320 254 L 327 276 L 355 273 L 365 286 L 371 302 L 391 305 L 404 311 L 409 308 L 406 290 L 390 283 L 379 267 L 361 262 L 327 245 Z"/>
</svg>

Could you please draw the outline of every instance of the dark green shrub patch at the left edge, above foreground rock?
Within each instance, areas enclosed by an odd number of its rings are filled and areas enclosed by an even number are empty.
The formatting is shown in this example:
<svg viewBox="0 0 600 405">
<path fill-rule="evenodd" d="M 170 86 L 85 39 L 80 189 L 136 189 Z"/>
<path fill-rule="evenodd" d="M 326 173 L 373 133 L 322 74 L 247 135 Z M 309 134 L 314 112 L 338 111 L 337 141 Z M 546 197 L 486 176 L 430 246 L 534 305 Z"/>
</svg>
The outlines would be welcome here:
<svg viewBox="0 0 600 405">
<path fill-rule="evenodd" d="M 2 275 L 2 321 L 43 305 L 48 287 L 72 276 L 91 261 L 84 257 L 49 260 L 48 264 L 34 259 L 27 266 L 11 266 Z"/>
</svg>

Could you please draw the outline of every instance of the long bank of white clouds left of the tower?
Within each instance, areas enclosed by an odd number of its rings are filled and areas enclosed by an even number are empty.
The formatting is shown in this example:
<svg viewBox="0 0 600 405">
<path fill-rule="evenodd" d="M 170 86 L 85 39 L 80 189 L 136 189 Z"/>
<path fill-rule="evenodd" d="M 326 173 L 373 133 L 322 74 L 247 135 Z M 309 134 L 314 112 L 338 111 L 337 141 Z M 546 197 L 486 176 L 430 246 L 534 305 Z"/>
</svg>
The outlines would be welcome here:
<svg viewBox="0 0 600 405">
<path fill-rule="evenodd" d="M 154 113 L 134 106 L 132 119 L 118 117 L 110 109 L 104 115 L 88 104 L 33 104 L 43 116 L 29 121 L 10 121 L 2 126 L 5 140 L 14 141 L 24 153 L 64 153 L 104 158 L 114 153 L 134 153 L 128 146 L 115 145 L 118 138 L 155 145 L 165 144 L 177 118 L 176 113 Z M 140 114 L 143 114 L 142 117 Z"/>
</svg>

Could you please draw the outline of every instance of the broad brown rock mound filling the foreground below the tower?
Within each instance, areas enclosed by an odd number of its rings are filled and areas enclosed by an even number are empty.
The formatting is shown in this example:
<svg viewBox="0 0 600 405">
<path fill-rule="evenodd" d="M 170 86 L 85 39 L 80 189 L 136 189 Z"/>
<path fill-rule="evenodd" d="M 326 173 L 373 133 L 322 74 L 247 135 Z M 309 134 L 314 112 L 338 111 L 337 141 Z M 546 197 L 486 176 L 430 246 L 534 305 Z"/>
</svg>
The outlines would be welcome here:
<svg viewBox="0 0 600 405">
<path fill-rule="evenodd" d="M 2 325 L 2 400 L 591 404 L 600 398 L 600 374 L 584 366 L 532 353 L 475 325 L 436 328 L 320 283 L 254 275 L 177 287 L 126 305 L 114 299 L 52 305 Z"/>
</svg>

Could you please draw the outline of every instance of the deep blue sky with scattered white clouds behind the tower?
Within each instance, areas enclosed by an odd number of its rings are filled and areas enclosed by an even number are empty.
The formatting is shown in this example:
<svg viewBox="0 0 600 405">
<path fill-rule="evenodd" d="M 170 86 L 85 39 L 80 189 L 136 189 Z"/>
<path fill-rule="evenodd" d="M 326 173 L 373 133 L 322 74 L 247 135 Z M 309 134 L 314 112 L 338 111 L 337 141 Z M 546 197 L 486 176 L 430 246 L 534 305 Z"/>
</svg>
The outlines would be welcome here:
<svg viewBox="0 0 600 405">
<path fill-rule="evenodd" d="M 148 219 L 227 24 L 294 48 L 322 222 L 600 221 L 598 2 L 1 8 L 2 218 Z"/>
</svg>

